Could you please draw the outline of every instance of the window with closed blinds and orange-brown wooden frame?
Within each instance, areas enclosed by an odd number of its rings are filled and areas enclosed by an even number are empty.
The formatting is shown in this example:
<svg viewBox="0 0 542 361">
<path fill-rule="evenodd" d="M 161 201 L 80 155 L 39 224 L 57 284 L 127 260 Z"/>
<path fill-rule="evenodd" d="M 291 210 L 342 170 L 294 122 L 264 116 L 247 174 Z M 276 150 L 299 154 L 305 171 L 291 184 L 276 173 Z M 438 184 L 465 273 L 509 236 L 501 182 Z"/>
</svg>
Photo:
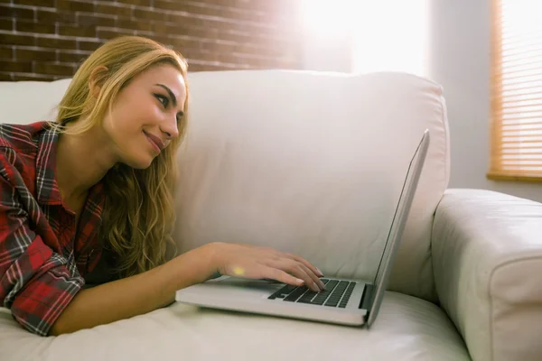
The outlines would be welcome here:
<svg viewBox="0 0 542 361">
<path fill-rule="evenodd" d="M 539 1 L 491 3 L 490 179 L 542 181 Z"/>
</svg>

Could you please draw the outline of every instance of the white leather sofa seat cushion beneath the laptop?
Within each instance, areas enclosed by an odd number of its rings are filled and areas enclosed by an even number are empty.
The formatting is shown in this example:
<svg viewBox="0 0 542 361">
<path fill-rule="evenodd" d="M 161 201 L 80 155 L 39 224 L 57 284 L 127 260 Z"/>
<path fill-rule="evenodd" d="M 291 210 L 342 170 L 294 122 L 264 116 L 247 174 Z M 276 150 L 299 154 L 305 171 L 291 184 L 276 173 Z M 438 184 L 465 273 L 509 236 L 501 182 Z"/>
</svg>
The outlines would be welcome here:
<svg viewBox="0 0 542 361">
<path fill-rule="evenodd" d="M 463 339 L 435 304 L 388 292 L 371 329 L 280 319 L 179 302 L 133 319 L 54 338 L 34 336 L 0 312 L 0 359 L 470 360 Z"/>
</svg>

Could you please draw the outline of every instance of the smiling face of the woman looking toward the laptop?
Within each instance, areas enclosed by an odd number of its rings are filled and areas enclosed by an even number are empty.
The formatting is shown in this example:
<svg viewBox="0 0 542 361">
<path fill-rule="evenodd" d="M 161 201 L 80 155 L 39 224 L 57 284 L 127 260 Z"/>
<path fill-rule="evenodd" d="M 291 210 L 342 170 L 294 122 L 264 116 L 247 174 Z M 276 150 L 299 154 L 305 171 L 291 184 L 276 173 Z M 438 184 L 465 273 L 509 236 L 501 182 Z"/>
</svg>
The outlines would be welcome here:
<svg viewBox="0 0 542 361">
<path fill-rule="evenodd" d="M 181 72 L 156 65 L 120 90 L 103 122 L 119 162 L 144 169 L 179 136 L 186 87 Z"/>
</svg>

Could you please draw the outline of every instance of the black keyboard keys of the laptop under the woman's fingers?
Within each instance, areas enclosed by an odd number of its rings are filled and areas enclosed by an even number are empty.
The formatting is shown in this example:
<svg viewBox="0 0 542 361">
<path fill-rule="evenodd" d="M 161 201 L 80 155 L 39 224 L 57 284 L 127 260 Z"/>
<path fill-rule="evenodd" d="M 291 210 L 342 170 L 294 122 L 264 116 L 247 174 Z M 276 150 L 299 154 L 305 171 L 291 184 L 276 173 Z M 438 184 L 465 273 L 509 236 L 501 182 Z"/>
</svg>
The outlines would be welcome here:
<svg viewBox="0 0 542 361">
<path fill-rule="evenodd" d="M 322 282 L 325 284 L 325 290 L 322 292 L 313 292 L 305 286 L 298 287 L 286 284 L 269 296 L 268 299 L 282 299 L 288 302 L 310 303 L 344 309 L 350 300 L 356 282 L 328 280 L 325 278 L 322 278 Z"/>
</svg>

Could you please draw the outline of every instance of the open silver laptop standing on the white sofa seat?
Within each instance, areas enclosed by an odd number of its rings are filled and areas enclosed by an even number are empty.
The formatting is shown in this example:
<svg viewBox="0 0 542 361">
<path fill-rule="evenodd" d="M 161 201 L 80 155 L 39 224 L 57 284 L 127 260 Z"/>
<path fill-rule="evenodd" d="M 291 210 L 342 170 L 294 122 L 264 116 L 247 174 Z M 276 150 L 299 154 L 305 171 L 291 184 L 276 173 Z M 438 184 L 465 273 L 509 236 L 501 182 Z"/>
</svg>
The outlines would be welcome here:
<svg viewBox="0 0 542 361">
<path fill-rule="evenodd" d="M 401 190 L 373 282 L 322 277 L 326 289 L 313 292 L 305 286 L 292 286 L 269 280 L 221 276 L 178 290 L 175 300 L 201 307 L 266 314 L 292 319 L 309 319 L 369 328 L 377 318 L 388 285 L 399 241 L 412 206 L 420 173 L 429 146 L 425 130 L 416 148 Z"/>
</svg>

